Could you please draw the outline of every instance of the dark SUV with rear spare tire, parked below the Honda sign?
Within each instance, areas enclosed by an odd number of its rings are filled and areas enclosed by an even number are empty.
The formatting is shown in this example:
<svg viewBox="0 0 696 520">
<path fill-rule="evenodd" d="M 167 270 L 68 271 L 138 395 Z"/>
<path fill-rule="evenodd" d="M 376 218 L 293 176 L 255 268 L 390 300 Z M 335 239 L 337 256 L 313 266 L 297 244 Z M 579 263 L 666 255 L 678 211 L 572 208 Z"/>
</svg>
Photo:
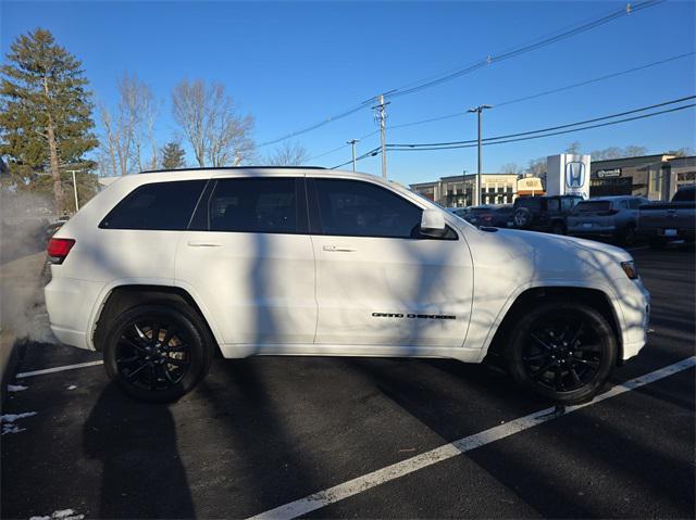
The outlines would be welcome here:
<svg viewBox="0 0 696 520">
<path fill-rule="evenodd" d="M 566 217 L 583 198 L 580 195 L 520 196 L 514 201 L 515 228 L 566 234 Z"/>
</svg>

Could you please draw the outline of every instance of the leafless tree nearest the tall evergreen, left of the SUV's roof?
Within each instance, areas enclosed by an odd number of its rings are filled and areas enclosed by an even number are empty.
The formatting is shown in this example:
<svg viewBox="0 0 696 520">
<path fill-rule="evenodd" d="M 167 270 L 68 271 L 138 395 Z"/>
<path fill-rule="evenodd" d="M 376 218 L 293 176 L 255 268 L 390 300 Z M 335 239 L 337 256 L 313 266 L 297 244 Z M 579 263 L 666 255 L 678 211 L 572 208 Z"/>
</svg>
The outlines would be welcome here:
<svg viewBox="0 0 696 520">
<path fill-rule="evenodd" d="M 119 80 L 119 105 L 115 115 L 101 104 L 101 121 L 104 135 L 102 149 L 111 163 L 112 175 L 141 172 L 145 164 L 157 167 L 158 148 L 154 139 L 157 103 L 152 90 L 135 75 L 124 73 Z M 145 157 L 145 149 L 151 156 Z"/>
</svg>

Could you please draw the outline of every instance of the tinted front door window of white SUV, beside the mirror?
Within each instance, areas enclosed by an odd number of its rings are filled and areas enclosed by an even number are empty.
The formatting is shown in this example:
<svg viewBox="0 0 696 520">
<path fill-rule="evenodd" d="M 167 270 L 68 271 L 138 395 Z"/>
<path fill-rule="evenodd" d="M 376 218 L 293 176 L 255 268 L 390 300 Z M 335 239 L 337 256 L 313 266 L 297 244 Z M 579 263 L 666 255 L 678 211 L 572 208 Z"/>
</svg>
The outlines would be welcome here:
<svg viewBox="0 0 696 520">
<path fill-rule="evenodd" d="M 422 210 L 396 193 L 358 180 L 314 179 L 324 234 L 414 237 Z"/>
</svg>

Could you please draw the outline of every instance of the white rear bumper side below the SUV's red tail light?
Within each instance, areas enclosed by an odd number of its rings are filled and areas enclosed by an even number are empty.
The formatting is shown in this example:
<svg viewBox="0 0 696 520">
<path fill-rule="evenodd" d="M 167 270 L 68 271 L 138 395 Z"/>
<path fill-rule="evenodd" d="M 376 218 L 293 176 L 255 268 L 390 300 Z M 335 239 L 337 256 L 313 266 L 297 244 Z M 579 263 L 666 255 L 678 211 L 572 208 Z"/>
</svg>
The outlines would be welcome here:
<svg viewBox="0 0 696 520">
<path fill-rule="evenodd" d="M 61 277 L 46 286 L 44 294 L 51 330 L 61 343 L 95 350 L 89 319 L 102 288 L 101 282 Z"/>
</svg>

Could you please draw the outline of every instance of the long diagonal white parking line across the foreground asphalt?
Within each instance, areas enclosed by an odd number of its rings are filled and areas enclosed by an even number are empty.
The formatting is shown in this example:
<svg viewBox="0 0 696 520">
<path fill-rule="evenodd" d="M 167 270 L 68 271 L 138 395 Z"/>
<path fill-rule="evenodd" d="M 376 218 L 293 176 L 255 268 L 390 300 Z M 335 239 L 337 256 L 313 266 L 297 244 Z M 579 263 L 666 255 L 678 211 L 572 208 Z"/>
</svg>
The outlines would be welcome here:
<svg viewBox="0 0 696 520">
<path fill-rule="evenodd" d="M 586 406 L 601 403 L 605 399 L 616 397 L 617 395 L 624 394 L 632 390 L 639 389 L 641 386 L 645 386 L 646 384 L 667 378 L 669 376 L 672 376 L 673 373 L 686 370 L 694 366 L 696 366 L 696 356 L 688 357 L 673 365 L 669 365 L 659 370 L 655 370 L 654 372 L 646 373 L 645 376 L 641 376 L 635 379 L 631 379 L 630 381 L 626 381 L 625 383 L 614 386 L 608 392 L 598 395 L 591 403 L 569 406 L 566 409 L 566 414 L 585 408 Z M 456 457 L 457 455 L 461 455 L 462 453 L 470 452 L 480 446 L 499 441 L 521 431 L 534 428 L 535 426 L 543 424 L 558 417 L 562 417 L 566 414 L 555 414 L 554 408 L 546 408 L 539 411 L 535 411 L 534 414 L 520 417 L 519 419 L 514 419 L 505 424 L 490 428 L 489 430 L 485 430 L 481 433 L 462 437 L 452 443 L 445 444 L 443 446 L 431 449 L 430 452 L 425 452 L 421 455 L 417 455 L 400 462 L 393 464 L 391 466 L 387 466 L 362 477 L 349 480 L 347 482 L 344 482 L 343 484 L 328 487 L 312 495 L 306 496 L 304 498 L 300 498 L 298 500 L 290 502 L 289 504 L 270 509 L 251 518 L 297 518 L 301 515 L 307 515 L 308 512 L 328 506 L 330 504 L 334 504 L 359 493 L 363 493 L 380 484 L 384 484 L 385 482 L 389 482 L 391 480 L 398 479 L 399 477 L 403 477 L 406 474 L 418 471 L 419 469 L 423 469 L 434 464 L 442 462 L 443 460 Z"/>
</svg>

